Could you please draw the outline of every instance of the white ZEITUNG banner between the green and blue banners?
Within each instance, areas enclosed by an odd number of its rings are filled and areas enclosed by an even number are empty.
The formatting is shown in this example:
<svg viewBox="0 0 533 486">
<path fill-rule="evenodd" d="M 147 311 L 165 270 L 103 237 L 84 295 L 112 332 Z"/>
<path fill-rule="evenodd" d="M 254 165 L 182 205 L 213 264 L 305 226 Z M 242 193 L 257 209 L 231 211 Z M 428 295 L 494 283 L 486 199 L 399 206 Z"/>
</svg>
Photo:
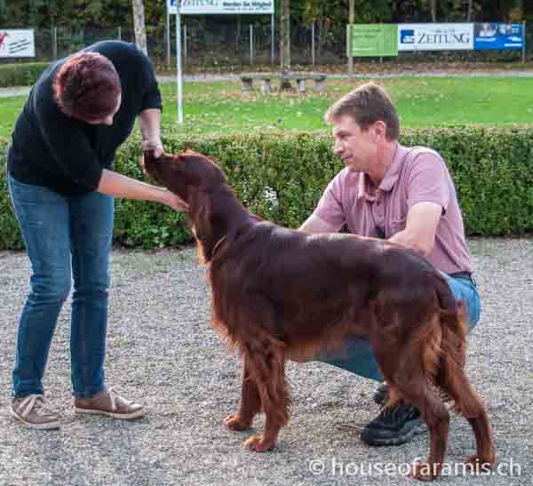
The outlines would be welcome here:
<svg viewBox="0 0 533 486">
<path fill-rule="evenodd" d="M 398 51 L 473 50 L 473 24 L 398 24 Z"/>
</svg>

